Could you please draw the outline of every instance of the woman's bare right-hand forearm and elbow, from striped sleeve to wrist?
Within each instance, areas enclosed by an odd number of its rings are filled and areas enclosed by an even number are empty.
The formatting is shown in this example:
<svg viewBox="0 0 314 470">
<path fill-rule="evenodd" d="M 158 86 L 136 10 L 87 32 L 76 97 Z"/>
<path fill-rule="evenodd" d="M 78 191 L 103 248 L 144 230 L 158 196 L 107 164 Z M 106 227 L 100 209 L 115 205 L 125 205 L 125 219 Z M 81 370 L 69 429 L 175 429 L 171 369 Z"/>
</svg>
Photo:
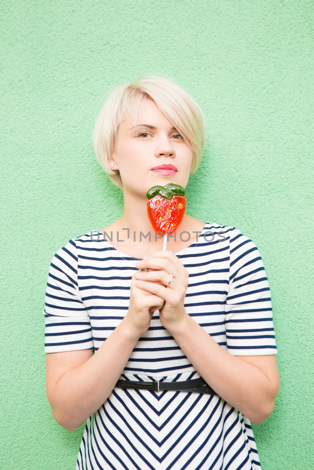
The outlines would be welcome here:
<svg viewBox="0 0 314 470">
<path fill-rule="evenodd" d="M 193 367 L 225 401 L 254 424 L 271 415 L 280 385 L 274 354 L 234 356 L 187 313 L 179 325 L 168 330 Z"/>
</svg>

